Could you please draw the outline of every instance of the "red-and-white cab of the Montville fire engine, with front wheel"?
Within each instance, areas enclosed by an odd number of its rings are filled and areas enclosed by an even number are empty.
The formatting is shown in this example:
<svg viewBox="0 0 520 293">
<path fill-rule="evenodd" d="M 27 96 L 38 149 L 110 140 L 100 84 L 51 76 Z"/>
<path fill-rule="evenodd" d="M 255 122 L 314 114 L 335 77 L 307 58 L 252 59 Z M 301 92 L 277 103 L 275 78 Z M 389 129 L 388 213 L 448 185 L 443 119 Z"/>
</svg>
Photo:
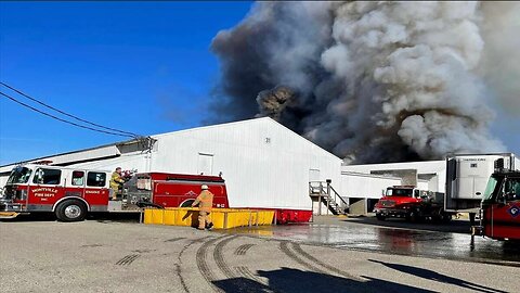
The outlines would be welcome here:
<svg viewBox="0 0 520 293">
<path fill-rule="evenodd" d="M 15 167 L 6 181 L 1 212 L 53 212 L 63 221 L 84 219 L 108 205 L 110 171 L 46 165 Z"/>
</svg>

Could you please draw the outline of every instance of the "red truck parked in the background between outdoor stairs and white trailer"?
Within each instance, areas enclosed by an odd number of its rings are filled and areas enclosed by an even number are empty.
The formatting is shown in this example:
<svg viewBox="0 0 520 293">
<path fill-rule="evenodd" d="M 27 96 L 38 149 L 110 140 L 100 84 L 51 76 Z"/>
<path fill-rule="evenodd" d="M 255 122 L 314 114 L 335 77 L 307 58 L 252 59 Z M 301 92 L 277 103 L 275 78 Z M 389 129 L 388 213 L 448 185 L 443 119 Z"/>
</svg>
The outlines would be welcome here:
<svg viewBox="0 0 520 293">
<path fill-rule="evenodd" d="M 379 220 L 402 217 L 411 221 L 425 218 L 447 221 L 452 214 L 444 212 L 443 199 L 443 193 L 419 190 L 414 186 L 393 186 L 387 188 L 374 209 Z"/>
</svg>

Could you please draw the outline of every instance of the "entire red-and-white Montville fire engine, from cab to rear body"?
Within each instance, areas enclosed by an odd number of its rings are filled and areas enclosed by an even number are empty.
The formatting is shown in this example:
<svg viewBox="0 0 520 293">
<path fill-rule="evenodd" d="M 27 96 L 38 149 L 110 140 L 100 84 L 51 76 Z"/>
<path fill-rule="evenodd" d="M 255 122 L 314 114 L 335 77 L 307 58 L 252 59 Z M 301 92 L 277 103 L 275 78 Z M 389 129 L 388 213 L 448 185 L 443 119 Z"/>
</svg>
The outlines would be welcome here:
<svg viewBox="0 0 520 293">
<path fill-rule="evenodd" d="M 229 207 L 224 179 L 166 173 L 134 174 L 120 196 L 110 200 L 112 171 L 27 164 L 11 173 L 0 198 L 0 212 L 51 212 L 62 221 L 83 220 L 94 212 L 139 212 L 144 206 L 190 206 L 207 184 L 214 207 Z"/>
</svg>

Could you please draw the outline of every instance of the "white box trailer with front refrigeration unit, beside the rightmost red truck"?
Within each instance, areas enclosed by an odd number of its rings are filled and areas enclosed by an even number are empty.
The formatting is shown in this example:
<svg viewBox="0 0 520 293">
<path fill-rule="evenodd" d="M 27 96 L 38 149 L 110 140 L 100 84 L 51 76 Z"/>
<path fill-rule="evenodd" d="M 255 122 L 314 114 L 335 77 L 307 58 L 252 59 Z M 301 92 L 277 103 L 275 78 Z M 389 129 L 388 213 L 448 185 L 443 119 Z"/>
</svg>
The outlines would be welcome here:
<svg viewBox="0 0 520 293">
<path fill-rule="evenodd" d="M 469 213 L 471 221 L 479 212 L 487 179 L 494 173 L 496 160 L 515 170 L 520 166 L 512 153 L 456 154 L 446 157 L 446 192 L 444 209 L 453 213 Z"/>
</svg>

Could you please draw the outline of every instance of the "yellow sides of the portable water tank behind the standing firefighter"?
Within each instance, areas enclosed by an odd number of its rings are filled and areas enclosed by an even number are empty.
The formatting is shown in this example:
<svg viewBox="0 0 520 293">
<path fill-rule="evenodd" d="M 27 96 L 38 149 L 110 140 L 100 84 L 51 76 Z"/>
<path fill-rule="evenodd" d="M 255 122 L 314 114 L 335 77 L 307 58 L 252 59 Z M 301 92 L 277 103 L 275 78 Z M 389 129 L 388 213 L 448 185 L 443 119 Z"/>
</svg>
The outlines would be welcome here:
<svg viewBox="0 0 520 293">
<path fill-rule="evenodd" d="M 209 215 L 213 229 L 272 225 L 274 211 L 213 208 Z M 145 208 L 144 224 L 198 226 L 198 207 Z"/>
</svg>

